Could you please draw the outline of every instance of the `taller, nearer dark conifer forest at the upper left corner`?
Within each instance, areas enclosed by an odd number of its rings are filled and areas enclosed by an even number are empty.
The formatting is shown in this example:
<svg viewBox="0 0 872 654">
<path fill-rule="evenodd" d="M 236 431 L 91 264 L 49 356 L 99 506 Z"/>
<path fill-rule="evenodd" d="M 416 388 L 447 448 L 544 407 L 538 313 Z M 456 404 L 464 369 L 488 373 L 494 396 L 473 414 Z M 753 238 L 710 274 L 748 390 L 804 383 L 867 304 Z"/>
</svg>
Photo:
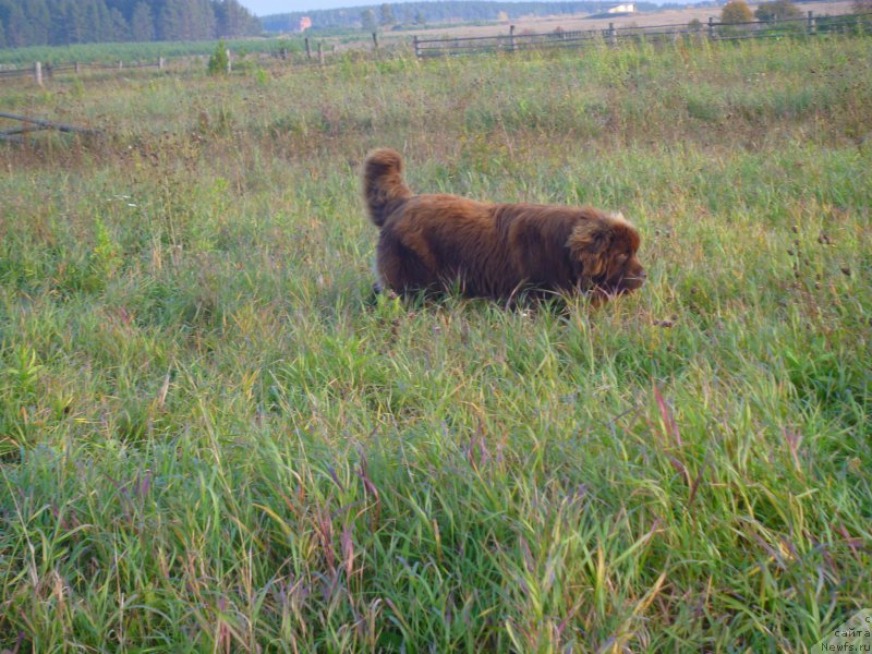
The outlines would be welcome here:
<svg viewBox="0 0 872 654">
<path fill-rule="evenodd" d="M 259 34 L 238 0 L 0 0 L 0 48 Z"/>
</svg>

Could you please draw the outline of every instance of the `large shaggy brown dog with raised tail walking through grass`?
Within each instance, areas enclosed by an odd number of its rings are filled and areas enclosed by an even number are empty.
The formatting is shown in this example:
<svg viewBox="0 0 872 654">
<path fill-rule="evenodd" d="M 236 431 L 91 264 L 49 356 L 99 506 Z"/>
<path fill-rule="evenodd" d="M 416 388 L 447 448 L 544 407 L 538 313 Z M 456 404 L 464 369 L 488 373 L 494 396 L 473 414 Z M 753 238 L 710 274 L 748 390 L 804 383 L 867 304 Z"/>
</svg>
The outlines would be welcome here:
<svg viewBox="0 0 872 654">
<path fill-rule="evenodd" d="M 639 232 L 596 209 L 491 204 L 456 195 L 414 195 L 392 149 L 366 157 L 363 194 L 382 230 L 377 290 L 402 294 L 459 287 L 474 298 L 593 292 L 606 299 L 640 288 Z"/>
</svg>

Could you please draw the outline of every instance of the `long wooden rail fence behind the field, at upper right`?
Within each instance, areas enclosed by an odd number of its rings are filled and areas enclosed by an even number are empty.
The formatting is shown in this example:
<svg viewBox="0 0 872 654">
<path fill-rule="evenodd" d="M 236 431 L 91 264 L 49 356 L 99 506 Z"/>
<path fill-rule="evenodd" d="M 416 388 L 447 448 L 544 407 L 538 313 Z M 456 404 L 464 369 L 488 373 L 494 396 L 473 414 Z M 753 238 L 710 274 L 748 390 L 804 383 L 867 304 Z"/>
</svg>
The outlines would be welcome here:
<svg viewBox="0 0 872 654">
<path fill-rule="evenodd" d="M 455 38 L 421 39 L 412 44 L 415 57 L 444 57 L 480 52 L 517 52 L 543 48 L 582 48 L 595 43 L 618 45 L 627 41 L 675 41 L 707 38 L 735 40 L 743 38 L 776 38 L 785 36 L 819 36 L 824 34 L 872 34 L 872 13 L 838 16 L 815 16 L 812 12 L 800 19 L 753 21 L 750 23 L 716 23 L 708 19 L 699 25 L 653 25 L 647 27 L 615 27 L 576 32 L 555 31 L 546 34 L 508 34 Z"/>
</svg>

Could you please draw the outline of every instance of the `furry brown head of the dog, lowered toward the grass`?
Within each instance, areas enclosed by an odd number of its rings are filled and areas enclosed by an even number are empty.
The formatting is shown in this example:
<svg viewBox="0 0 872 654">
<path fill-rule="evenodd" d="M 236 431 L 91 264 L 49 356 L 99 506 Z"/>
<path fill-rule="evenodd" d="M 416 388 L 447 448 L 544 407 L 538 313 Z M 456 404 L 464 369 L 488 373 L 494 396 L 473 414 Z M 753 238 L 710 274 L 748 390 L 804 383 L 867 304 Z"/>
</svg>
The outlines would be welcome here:
<svg viewBox="0 0 872 654">
<path fill-rule="evenodd" d="M 635 256 L 639 243 L 639 232 L 620 214 L 582 220 L 567 241 L 577 283 L 605 295 L 641 288 L 646 274 Z"/>
</svg>

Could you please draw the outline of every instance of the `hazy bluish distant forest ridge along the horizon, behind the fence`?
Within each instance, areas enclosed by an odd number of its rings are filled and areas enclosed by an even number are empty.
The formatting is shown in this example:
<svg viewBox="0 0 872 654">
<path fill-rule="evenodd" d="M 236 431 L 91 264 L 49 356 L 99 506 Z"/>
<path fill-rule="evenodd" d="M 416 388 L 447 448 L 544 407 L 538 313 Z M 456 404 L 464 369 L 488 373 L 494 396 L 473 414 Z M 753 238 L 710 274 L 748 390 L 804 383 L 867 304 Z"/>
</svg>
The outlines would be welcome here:
<svg viewBox="0 0 872 654">
<path fill-rule="evenodd" d="M 402 2 L 343 9 L 316 9 L 264 16 L 261 22 L 266 32 L 296 29 L 300 19 L 308 16 L 313 29 L 364 28 L 391 29 L 400 25 L 425 25 L 449 21 L 497 21 L 522 16 L 548 16 L 556 14 L 598 13 L 614 2 L 487 2 L 483 0 L 445 0 L 441 2 Z M 654 10 L 652 2 L 637 2 L 641 11 Z M 500 15 L 505 14 L 505 15 Z"/>
</svg>

